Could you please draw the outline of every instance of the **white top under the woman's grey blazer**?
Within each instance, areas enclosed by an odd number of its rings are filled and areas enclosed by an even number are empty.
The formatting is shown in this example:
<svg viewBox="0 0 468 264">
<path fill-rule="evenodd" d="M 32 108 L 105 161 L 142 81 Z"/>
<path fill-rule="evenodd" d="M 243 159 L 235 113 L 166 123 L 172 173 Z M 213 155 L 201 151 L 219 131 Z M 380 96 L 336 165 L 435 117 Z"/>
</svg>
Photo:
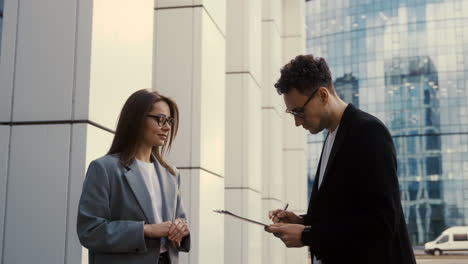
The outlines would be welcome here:
<svg viewBox="0 0 468 264">
<path fill-rule="evenodd" d="M 161 185 L 159 184 L 159 178 L 156 174 L 156 168 L 154 167 L 154 163 L 148 163 L 141 160 L 136 159 L 138 169 L 143 176 L 143 180 L 145 181 L 146 188 L 151 197 L 151 204 L 153 206 L 154 212 L 154 219 L 156 224 L 162 223 L 162 192 L 161 192 Z M 161 248 L 159 253 L 163 253 L 167 251 L 165 247 L 165 239 L 161 239 Z"/>
</svg>

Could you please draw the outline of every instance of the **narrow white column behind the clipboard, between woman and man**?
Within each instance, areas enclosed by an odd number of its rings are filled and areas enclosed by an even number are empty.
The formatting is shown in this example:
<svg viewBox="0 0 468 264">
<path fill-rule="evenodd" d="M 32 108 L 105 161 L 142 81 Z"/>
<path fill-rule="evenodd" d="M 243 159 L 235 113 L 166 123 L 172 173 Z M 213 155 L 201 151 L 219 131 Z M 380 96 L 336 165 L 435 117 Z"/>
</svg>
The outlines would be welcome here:
<svg viewBox="0 0 468 264">
<path fill-rule="evenodd" d="M 261 0 L 228 0 L 226 209 L 262 220 Z M 261 226 L 225 217 L 224 263 L 261 263 Z"/>
</svg>

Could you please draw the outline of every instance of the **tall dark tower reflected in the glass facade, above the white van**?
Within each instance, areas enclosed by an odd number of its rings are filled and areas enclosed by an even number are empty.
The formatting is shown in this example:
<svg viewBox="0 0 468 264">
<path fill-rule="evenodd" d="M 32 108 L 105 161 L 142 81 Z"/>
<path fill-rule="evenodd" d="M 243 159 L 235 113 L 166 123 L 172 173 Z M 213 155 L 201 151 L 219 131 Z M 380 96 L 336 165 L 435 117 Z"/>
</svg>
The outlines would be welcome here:
<svg viewBox="0 0 468 264">
<path fill-rule="evenodd" d="M 429 57 L 384 64 L 385 113 L 398 157 L 410 237 L 424 243 L 445 228 L 437 71 Z"/>
</svg>

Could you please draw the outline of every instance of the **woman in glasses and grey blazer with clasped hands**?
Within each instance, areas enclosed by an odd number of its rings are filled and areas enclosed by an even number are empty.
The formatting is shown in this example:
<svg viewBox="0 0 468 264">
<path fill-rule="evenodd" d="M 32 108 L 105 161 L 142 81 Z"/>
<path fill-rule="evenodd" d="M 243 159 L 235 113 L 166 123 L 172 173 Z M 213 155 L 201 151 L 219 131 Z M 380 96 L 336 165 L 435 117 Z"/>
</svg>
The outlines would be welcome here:
<svg viewBox="0 0 468 264">
<path fill-rule="evenodd" d="M 189 251 L 180 175 L 163 159 L 178 122 L 176 103 L 157 92 L 127 99 L 109 152 L 83 184 L 77 231 L 90 264 L 177 264 Z"/>
</svg>

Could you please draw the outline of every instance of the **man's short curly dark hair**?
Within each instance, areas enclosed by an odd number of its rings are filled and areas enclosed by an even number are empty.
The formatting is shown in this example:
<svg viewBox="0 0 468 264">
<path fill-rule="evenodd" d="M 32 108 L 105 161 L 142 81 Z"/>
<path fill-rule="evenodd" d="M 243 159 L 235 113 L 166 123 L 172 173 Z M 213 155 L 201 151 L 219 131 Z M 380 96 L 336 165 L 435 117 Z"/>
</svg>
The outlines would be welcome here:
<svg viewBox="0 0 468 264">
<path fill-rule="evenodd" d="M 324 58 L 298 55 L 281 69 L 281 77 L 275 83 L 279 94 L 287 94 L 296 88 L 301 94 L 310 95 L 319 87 L 326 87 L 335 94 L 332 77 Z"/>
</svg>

